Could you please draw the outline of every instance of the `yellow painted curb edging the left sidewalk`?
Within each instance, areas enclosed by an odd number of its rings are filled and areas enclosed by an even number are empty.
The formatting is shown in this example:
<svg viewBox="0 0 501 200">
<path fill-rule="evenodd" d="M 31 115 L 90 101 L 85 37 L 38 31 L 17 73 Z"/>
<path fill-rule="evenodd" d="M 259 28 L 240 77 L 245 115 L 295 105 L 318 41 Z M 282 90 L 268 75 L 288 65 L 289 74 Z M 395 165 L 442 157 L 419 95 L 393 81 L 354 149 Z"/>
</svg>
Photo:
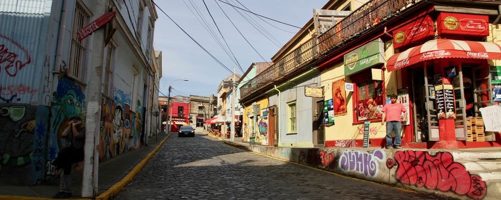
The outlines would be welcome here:
<svg viewBox="0 0 501 200">
<path fill-rule="evenodd" d="M 158 151 L 158 149 L 160 149 L 160 147 L 162 147 L 163 143 L 165 143 L 165 141 L 167 141 L 167 139 L 170 137 L 171 134 L 172 134 L 172 132 L 169 133 L 139 163 L 137 163 L 136 166 L 134 166 L 134 168 L 132 168 L 132 170 L 130 170 L 129 173 L 127 173 L 127 175 L 125 175 L 125 177 L 123 177 L 120 181 L 118 181 L 117 183 L 115 183 L 113 186 L 111 186 L 105 192 L 103 192 L 103 193 L 99 194 L 98 196 L 96 196 L 96 199 L 106 200 L 106 199 L 109 199 L 109 198 L 111 198 L 113 196 L 116 196 L 120 192 L 120 190 L 122 190 L 123 188 L 125 188 L 125 186 L 127 186 L 127 184 L 129 184 L 132 181 L 132 179 L 134 178 L 134 176 L 136 176 L 137 173 L 139 173 L 139 171 L 141 171 L 141 169 L 144 167 L 144 165 L 151 159 L 151 157 L 153 157 L 153 155 Z"/>
</svg>

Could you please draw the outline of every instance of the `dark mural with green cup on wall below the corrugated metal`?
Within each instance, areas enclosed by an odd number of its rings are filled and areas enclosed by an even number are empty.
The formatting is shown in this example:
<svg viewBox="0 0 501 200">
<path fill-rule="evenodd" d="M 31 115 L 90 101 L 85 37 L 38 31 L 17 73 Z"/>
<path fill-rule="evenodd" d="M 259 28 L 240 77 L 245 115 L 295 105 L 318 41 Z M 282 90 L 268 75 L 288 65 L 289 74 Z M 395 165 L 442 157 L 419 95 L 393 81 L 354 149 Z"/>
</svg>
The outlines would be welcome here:
<svg viewBox="0 0 501 200">
<path fill-rule="evenodd" d="M 34 134 L 45 134 L 36 113 L 36 105 L 0 103 L 0 182 L 30 184 Z"/>
</svg>

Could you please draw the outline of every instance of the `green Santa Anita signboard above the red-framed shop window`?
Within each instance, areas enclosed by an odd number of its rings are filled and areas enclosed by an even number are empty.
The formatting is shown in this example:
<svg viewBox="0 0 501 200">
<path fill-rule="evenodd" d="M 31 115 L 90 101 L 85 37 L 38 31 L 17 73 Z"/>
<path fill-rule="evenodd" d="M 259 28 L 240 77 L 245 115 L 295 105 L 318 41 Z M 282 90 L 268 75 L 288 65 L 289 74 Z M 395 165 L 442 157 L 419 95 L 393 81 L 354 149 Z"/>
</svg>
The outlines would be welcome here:
<svg viewBox="0 0 501 200">
<path fill-rule="evenodd" d="M 344 55 L 345 75 L 384 63 L 384 43 L 377 38 Z"/>
</svg>

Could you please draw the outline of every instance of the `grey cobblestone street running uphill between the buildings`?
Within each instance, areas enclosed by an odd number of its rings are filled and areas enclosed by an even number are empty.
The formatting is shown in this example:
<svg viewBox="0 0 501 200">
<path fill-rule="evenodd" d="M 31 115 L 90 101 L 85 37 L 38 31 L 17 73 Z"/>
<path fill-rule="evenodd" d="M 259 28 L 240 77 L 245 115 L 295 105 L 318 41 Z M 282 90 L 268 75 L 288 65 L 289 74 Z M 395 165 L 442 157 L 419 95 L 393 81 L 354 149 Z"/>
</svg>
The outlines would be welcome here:
<svg viewBox="0 0 501 200">
<path fill-rule="evenodd" d="M 114 199 L 449 199 L 341 177 L 172 134 Z"/>
</svg>

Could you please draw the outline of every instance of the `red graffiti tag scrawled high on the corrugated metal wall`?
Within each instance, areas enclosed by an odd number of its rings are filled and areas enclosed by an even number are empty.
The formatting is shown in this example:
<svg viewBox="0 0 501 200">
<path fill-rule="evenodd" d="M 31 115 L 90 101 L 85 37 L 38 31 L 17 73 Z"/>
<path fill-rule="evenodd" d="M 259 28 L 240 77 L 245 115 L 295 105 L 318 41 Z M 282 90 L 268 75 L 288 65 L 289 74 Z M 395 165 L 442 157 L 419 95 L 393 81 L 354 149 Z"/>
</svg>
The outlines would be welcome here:
<svg viewBox="0 0 501 200">
<path fill-rule="evenodd" d="M 0 44 L 0 69 L 5 69 L 10 76 L 16 76 L 19 70 L 26 66 L 26 64 L 31 63 L 31 57 L 28 55 L 28 51 L 18 42 L 1 34 L 0 38 L 7 40 L 16 47 L 14 49 L 9 49 L 5 43 Z M 24 52 L 25 57 L 20 57 L 17 52 Z M 2 70 L 0 70 L 0 74 L 2 74 Z"/>
</svg>

